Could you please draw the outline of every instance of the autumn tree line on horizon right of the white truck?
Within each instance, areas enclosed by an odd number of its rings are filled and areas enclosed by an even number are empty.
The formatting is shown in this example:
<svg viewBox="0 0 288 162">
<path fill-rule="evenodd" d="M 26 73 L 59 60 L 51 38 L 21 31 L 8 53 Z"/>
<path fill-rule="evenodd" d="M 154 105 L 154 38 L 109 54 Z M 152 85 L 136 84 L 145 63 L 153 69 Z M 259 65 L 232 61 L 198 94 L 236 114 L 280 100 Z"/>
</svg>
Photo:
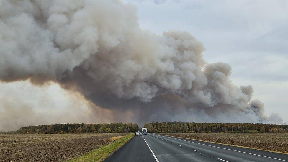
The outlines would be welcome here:
<svg viewBox="0 0 288 162">
<path fill-rule="evenodd" d="M 288 133 L 288 125 L 261 123 L 145 123 L 151 133 Z"/>
</svg>

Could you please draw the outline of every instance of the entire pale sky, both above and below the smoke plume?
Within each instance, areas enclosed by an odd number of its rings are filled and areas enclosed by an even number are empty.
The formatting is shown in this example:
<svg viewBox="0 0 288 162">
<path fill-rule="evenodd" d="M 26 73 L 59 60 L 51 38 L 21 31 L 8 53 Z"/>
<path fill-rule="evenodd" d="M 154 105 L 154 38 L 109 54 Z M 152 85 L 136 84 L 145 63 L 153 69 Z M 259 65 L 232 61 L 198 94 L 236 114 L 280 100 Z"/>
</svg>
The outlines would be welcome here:
<svg viewBox="0 0 288 162">
<path fill-rule="evenodd" d="M 253 86 L 252 99 L 265 104 L 265 114 L 279 113 L 288 123 L 288 1 L 123 2 L 137 8 L 143 30 L 158 35 L 171 29 L 190 32 L 204 44 L 208 64 L 230 64 L 233 83 Z M 107 118 L 109 113 L 52 82 L 45 86 L 0 82 L 0 131 L 53 124 L 50 121 L 113 122 L 113 116 Z"/>
</svg>

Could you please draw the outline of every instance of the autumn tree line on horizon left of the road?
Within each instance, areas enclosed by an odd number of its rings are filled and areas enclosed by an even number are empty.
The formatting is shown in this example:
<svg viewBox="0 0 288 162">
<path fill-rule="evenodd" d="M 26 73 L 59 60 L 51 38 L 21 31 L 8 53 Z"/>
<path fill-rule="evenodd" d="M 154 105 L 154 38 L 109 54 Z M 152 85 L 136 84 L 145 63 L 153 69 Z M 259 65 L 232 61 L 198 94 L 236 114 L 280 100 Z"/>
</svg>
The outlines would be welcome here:
<svg viewBox="0 0 288 162">
<path fill-rule="evenodd" d="M 126 133 L 139 130 L 137 124 L 52 124 L 22 127 L 16 134 L 64 134 L 64 133 Z"/>
</svg>

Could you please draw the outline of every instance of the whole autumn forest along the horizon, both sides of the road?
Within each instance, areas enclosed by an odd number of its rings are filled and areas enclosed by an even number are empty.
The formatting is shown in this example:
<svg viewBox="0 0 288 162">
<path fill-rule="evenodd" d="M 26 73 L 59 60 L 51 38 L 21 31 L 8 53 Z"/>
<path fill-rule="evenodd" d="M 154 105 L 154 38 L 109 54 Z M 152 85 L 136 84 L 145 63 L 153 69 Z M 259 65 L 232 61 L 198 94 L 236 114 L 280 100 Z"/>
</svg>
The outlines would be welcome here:
<svg viewBox="0 0 288 162">
<path fill-rule="evenodd" d="M 151 122 L 145 123 L 151 133 L 288 133 L 288 125 L 261 123 L 194 123 Z M 22 127 L 16 134 L 63 133 L 126 133 L 140 130 L 137 124 L 52 124 Z"/>
</svg>

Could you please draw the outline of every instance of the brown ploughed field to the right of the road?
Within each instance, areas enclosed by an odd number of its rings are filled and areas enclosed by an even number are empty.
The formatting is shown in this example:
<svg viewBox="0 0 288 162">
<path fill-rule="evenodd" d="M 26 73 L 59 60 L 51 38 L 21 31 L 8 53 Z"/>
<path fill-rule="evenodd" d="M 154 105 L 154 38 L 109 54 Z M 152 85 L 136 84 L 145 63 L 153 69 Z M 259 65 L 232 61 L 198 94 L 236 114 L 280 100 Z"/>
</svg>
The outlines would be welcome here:
<svg viewBox="0 0 288 162">
<path fill-rule="evenodd" d="M 162 135 L 288 153 L 288 133 L 163 133 Z"/>
</svg>

